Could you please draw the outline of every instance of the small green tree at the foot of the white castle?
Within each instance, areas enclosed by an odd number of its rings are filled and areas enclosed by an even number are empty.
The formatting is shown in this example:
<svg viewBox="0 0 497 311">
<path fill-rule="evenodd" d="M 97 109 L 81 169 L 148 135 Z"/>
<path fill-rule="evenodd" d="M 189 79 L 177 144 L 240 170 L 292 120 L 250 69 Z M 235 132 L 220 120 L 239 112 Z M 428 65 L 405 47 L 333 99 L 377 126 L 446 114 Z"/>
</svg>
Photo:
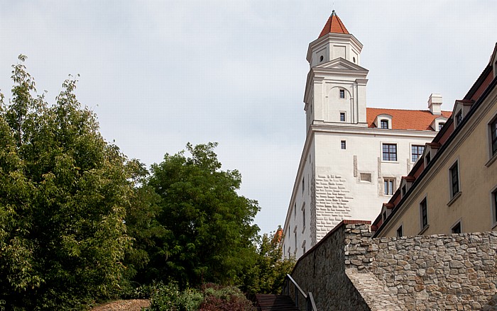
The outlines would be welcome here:
<svg viewBox="0 0 497 311">
<path fill-rule="evenodd" d="M 282 234 L 283 230 L 279 227 L 276 232 L 259 237 L 256 263 L 246 271 L 242 287 L 247 294 L 281 293 L 285 276 L 295 266 L 295 259 L 283 259 L 280 245 Z"/>
</svg>

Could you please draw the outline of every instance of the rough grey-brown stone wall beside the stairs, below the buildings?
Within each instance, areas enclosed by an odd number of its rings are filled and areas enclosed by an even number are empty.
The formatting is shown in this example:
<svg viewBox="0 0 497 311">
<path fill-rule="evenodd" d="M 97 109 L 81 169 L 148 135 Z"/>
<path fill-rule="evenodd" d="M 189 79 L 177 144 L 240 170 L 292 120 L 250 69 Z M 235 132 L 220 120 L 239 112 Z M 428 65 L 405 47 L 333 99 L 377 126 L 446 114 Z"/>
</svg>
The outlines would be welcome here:
<svg viewBox="0 0 497 311">
<path fill-rule="evenodd" d="M 497 232 L 371 239 L 344 221 L 292 273 L 318 310 L 497 310 Z"/>
</svg>

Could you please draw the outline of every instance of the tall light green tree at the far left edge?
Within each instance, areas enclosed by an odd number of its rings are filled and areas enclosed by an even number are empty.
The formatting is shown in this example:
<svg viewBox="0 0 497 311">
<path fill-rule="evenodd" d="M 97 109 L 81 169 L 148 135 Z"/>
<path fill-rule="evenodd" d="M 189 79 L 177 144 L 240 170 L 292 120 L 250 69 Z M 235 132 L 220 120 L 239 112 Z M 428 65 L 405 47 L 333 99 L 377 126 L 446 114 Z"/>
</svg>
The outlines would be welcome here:
<svg viewBox="0 0 497 311">
<path fill-rule="evenodd" d="M 129 172 L 81 108 L 76 81 L 48 106 L 31 95 L 25 59 L 13 66 L 12 99 L 0 111 L 0 300 L 9 309 L 69 309 L 119 283 Z"/>
</svg>

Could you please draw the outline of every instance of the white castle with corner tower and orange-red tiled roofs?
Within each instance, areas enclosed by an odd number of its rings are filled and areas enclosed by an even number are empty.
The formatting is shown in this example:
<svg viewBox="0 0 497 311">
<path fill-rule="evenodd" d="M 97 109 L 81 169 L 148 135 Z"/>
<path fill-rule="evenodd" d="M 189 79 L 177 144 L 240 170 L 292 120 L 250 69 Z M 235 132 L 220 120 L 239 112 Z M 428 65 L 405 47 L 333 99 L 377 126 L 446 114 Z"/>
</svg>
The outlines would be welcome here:
<svg viewBox="0 0 497 311">
<path fill-rule="evenodd" d="M 440 94 L 425 111 L 367 108 L 362 47 L 334 11 L 309 45 L 307 135 L 283 227 L 285 257 L 299 258 L 342 220 L 374 220 L 451 116 Z"/>
</svg>

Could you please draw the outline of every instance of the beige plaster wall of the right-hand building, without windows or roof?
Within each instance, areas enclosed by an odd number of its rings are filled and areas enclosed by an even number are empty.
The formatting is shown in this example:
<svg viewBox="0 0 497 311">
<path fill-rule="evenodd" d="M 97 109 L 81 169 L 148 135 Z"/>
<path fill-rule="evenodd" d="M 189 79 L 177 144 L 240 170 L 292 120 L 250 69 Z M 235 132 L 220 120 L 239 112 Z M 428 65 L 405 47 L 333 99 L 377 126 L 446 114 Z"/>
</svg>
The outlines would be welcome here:
<svg viewBox="0 0 497 311">
<path fill-rule="evenodd" d="M 450 146 L 439 154 L 427 174 L 415 185 L 402 208 L 379 232 L 394 237 L 398 227 L 405 235 L 449 234 L 461 223 L 462 232 L 497 230 L 492 191 L 497 188 L 497 161 L 491 162 L 488 123 L 497 115 L 497 90 L 488 98 L 481 113 L 471 116 Z M 459 164 L 460 194 L 451 198 L 449 169 Z M 428 225 L 421 225 L 420 203 L 427 199 Z"/>
</svg>

